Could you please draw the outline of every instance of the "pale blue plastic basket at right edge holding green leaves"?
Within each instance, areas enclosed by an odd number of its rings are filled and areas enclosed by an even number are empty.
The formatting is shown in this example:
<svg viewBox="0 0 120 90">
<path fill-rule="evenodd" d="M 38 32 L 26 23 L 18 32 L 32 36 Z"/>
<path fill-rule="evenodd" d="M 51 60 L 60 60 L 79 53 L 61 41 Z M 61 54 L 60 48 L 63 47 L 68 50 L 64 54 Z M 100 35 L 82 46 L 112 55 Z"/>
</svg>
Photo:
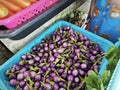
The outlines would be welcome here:
<svg viewBox="0 0 120 90">
<path fill-rule="evenodd" d="M 115 43 L 115 46 L 120 48 L 120 41 Z M 120 90 L 120 59 L 112 74 L 107 90 Z"/>
</svg>

